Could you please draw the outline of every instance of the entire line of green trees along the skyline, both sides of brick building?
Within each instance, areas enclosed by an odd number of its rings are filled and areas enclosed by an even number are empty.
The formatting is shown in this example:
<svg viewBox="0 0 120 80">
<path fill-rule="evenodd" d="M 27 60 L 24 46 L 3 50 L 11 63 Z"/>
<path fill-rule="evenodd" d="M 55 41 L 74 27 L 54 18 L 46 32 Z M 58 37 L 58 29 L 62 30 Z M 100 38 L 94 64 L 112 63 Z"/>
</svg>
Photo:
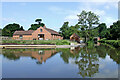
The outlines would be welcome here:
<svg viewBox="0 0 120 80">
<path fill-rule="evenodd" d="M 99 16 L 91 11 L 82 11 L 78 16 L 78 22 L 76 25 L 69 26 L 69 22 L 64 22 L 60 28 L 59 33 L 64 39 L 69 39 L 73 33 L 78 34 L 80 37 L 92 40 L 93 37 L 106 38 L 109 40 L 120 39 L 120 21 L 113 22 L 108 28 L 105 23 L 99 22 Z M 31 24 L 28 30 L 36 30 L 40 26 L 44 26 L 42 19 L 36 19 L 36 24 Z M 13 23 L 8 24 L 2 29 L 2 36 L 13 36 L 16 30 L 24 30 L 23 26 Z"/>
</svg>

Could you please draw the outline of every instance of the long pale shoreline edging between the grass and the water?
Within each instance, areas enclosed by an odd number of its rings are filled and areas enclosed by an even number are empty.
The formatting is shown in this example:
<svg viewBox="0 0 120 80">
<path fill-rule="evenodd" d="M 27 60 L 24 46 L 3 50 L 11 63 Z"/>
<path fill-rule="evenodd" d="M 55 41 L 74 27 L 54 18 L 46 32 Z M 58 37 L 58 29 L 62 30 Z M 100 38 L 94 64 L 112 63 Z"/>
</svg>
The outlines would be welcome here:
<svg viewBox="0 0 120 80">
<path fill-rule="evenodd" d="M 85 46 L 85 44 L 77 44 L 77 45 L 0 45 L 1 49 L 7 48 L 71 48 Z"/>
</svg>

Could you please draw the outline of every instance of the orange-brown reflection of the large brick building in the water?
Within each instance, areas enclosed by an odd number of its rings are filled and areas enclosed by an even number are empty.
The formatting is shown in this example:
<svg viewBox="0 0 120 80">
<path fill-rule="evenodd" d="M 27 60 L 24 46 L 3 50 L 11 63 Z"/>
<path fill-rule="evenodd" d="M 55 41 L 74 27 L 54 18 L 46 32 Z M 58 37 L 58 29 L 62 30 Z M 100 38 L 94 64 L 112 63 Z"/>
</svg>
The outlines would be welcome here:
<svg viewBox="0 0 120 80">
<path fill-rule="evenodd" d="M 51 56 L 53 56 L 54 54 L 56 54 L 57 51 L 56 50 L 37 50 L 37 51 L 31 51 L 31 50 L 27 50 L 27 51 L 15 51 L 13 52 L 13 54 L 15 54 L 16 56 L 29 56 L 32 58 L 37 59 L 40 63 L 42 62 L 46 62 L 46 60 L 48 58 L 50 58 Z"/>
</svg>

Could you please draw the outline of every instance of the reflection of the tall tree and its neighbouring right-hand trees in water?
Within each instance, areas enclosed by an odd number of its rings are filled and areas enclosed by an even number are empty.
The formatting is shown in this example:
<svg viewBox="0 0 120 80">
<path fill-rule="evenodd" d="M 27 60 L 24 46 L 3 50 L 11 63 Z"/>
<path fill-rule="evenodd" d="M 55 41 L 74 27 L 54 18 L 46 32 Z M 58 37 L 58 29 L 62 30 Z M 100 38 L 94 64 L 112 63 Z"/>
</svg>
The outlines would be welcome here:
<svg viewBox="0 0 120 80">
<path fill-rule="evenodd" d="M 69 59 L 75 59 L 75 64 L 78 65 L 79 72 L 82 77 L 92 77 L 99 71 L 99 58 L 105 59 L 108 54 L 117 64 L 120 64 L 119 49 L 111 49 L 106 46 L 88 46 L 77 48 L 75 50 L 60 49 L 60 55 L 64 62 L 69 63 Z"/>
</svg>

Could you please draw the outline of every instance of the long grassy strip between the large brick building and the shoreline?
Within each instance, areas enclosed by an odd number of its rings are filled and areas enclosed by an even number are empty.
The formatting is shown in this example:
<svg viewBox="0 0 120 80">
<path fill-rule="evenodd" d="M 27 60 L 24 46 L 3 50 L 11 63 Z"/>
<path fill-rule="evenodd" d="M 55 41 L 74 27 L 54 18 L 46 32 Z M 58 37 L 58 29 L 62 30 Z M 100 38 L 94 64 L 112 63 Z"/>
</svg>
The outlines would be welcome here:
<svg viewBox="0 0 120 80">
<path fill-rule="evenodd" d="M 47 44 L 47 45 L 70 45 L 77 44 L 69 40 L 3 40 L 2 44 Z"/>
</svg>

